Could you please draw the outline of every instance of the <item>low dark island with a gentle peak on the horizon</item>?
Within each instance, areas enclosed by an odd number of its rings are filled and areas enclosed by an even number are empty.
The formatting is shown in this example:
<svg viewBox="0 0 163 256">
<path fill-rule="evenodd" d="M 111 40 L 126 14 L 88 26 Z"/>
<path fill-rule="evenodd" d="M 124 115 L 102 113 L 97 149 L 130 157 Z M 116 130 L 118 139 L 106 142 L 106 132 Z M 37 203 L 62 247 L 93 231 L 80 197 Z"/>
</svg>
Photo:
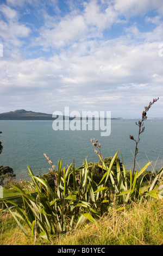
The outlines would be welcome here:
<svg viewBox="0 0 163 256">
<path fill-rule="evenodd" d="M 59 116 L 57 116 L 56 118 L 58 117 Z M 56 118 L 54 118 L 52 114 L 26 111 L 24 109 L 18 109 L 15 111 L 10 111 L 10 112 L 0 114 L 0 120 L 55 120 Z M 65 116 L 63 115 L 61 118 L 65 119 Z M 69 118 L 70 120 L 74 119 L 74 117 L 69 117 Z M 82 119 L 82 117 L 80 119 Z M 90 118 L 87 118 L 87 119 L 90 119 Z M 92 117 L 91 119 L 96 119 L 96 118 Z M 122 119 L 122 118 L 111 118 L 111 119 Z"/>
</svg>

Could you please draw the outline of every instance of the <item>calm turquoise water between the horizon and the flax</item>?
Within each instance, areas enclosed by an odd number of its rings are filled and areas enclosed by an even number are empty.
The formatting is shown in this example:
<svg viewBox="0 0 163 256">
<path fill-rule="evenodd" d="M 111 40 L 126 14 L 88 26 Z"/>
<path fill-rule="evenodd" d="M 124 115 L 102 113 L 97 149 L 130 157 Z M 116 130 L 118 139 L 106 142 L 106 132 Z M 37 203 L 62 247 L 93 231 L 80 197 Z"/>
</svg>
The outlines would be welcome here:
<svg viewBox="0 0 163 256">
<path fill-rule="evenodd" d="M 101 131 L 54 131 L 53 121 L 45 120 L 0 120 L 0 141 L 3 151 L 0 155 L 0 165 L 10 166 L 17 179 L 29 179 L 27 165 L 34 175 L 48 172 L 49 163 L 43 153 L 52 160 L 57 167 L 58 159 L 62 159 L 62 166 L 67 166 L 75 160 L 76 167 L 82 165 L 85 157 L 87 161 L 98 162 L 90 138 L 98 139 L 101 143 L 103 157 L 114 156 L 120 149 L 118 156 L 127 169 L 133 169 L 133 154 L 135 143 L 129 139 L 134 135 L 137 139 L 138 126 L 136 120 L 111 120 L 111 134 L 101 137 Z M 140 135 L 139 155 L 137 155 L 136 169 L 140 170 L 148 161 L 153 161 L 151 170 L 159 170 L 163 165 L 163 120 L 144 122 L 145 132 Z M 132 154 L 133 152 L 133 154 Z"/>
</svg>

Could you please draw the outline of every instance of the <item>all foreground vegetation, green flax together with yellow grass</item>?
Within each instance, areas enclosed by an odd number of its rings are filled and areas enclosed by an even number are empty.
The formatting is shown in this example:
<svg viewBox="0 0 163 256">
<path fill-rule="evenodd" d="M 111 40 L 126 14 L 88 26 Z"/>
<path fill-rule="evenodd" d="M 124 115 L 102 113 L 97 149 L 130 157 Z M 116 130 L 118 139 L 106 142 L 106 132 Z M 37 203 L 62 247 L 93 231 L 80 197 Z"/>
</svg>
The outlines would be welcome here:
<svg viewBox="0 0 163 256">
<path fill-rule="evenodd" d="M 98 163 L 86 158 L 82 166 L 73 161 L 66 169 L 58 160 L 55 169 L 45 154 L 51 165 L 47 175 L 34 176 L 27 166 L 31 181 L 12 185 L 22 200 L 1 199 L 1 218 L 10 213 L 34 244 L 162 244 L 163 167 L 151 175 L 151 162 L 140 172 L 127 171 L 119 151 L 103 159 L 101 144 L 95 138 L 91 142 Z"/>
</svg>

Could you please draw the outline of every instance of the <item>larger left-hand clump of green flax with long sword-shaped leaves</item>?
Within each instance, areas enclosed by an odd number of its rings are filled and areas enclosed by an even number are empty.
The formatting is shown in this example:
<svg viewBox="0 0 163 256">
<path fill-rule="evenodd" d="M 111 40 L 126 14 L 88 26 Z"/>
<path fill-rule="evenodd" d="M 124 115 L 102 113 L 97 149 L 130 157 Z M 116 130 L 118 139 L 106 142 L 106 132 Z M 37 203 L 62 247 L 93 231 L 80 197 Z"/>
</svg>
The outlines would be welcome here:
<svg viewBox="0 0 163 256">
<path fill-rule="evenodd" d="M 35 187 L 35 194 L 27 193 L 13 185 L 21 193 L 23 205 L 9 198 L 2 199 L 6 208 L 1 210 L 11 213 L 24 234 L 28 236 L 21 221 L 28 225 L 31 236 L 39 235 L 46 240 L 50 240 L 52 234 L 71 230 L 74 224 L 78 226 L 85 220 L 95 222 L 99 213 L 87 161 L 82 167 L 75 169 L 71 164 L 66 170 L 65 167 L 62 169 L 62 161 L 58 160 L 57 180 L 55 180 L 57 186 L 54 185 L 54 188 L 51 188 L 46 180 L 34 176 L 30 167 L 27 167 Z M 76 179 L 77 170 L 80 170 L 80 182 Z M 73 175 L 72 186 L 69 182 L 70 175 Z"/>
</svg>

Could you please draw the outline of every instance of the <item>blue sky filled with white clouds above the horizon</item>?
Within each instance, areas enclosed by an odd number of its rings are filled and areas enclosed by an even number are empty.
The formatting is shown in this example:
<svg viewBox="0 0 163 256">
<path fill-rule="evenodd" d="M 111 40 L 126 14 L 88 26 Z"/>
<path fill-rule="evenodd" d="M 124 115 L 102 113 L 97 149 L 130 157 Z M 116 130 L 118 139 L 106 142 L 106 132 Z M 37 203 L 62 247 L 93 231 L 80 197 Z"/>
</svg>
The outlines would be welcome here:
<svg viewBox="0 0 163 256">
<path fill-rule="evenodd" d="M 162 0 L 0 0 L 0 113 L 163 118 Z"/>
</svg>

